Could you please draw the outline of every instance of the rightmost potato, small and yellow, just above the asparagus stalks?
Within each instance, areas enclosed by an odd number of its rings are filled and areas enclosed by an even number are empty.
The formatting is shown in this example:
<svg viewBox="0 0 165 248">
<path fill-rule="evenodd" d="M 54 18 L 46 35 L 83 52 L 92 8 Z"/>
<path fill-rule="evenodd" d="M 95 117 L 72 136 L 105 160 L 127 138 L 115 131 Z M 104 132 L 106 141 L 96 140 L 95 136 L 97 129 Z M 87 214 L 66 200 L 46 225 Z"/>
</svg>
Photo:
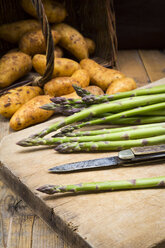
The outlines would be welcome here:
<svg viewBox="0 0 165 248">
<path fill-rule="evenodd" d="M 136 82 L 133 80 L 133 78 L 118 78 L 112 81 L 111 85 L 106 91 L 106 94 L 112 95 L 118 92 L 134 90 L 136 87 Z"/>
</svg>

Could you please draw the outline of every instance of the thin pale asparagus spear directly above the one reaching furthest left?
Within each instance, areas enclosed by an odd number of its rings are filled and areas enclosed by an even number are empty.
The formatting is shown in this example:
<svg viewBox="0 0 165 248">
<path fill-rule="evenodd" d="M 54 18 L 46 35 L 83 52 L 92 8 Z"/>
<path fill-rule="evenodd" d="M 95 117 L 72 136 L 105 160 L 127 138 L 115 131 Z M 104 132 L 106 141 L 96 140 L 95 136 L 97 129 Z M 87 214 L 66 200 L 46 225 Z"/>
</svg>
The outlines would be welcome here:
<svg viewBox="0 0 165 248">
<path fill-rule="evenodd" d="M 94 135 L 100 135 L 100 134 L 110 134 L 110 133 L 118 133 L 122 131 L 131 131 L 131 130 L 139 130 L 142 128 L 150 128 L 155 127 L 159 128 L 161 126 L 165 126 L 164 123 L 154 123 L 154 124 L 146 124 L 146 125 L 138 125 L 138 126 L 128 126 L 128 127 L 117 127 L 117 128 L 103 128 L 99 130 L 89 130 L 89 131 L 79 131 L 79 132 L 71 132 L 66 133 L 67 137 L 80 137 L 80 136 L 94 136 Z"/>
</svg>

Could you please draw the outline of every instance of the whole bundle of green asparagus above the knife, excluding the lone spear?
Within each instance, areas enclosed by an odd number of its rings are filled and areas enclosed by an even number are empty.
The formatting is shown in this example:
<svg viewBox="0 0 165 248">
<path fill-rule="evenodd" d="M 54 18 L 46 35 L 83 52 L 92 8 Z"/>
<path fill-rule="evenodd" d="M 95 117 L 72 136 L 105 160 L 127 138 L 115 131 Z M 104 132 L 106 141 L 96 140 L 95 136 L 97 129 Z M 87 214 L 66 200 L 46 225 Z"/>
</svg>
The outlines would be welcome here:
<svg viewBox="0 0 165 248">
<path fill-rule="evenodd" d="M 165 85 L 112 96 L 93 96 L 86 90 L 74 87 L 82 99 L 58 97 L 53 98 L 51 104 L 43 106 L 44 109 L 59 109 L 62 113 L 68 111 L 68 115 L 74 114 L 19 141 L 18 145 L 53 145 L 56 146 L 56 151 L 66 153 L 122 150 L 133 146 L 165 143 L 165 123 L 163 123 L 165 121 Z M 75 125 L 70 126 L 73 123 Z M 75 129 L 100 124 L 124 124 L 127 127 L 73 133 Z M 128 126 L 135 124 L 136 126 L 133 127 Z M 59 129 L 60 132 L 52 138 L 44 138 L 47 134 Z"/>
</svg>

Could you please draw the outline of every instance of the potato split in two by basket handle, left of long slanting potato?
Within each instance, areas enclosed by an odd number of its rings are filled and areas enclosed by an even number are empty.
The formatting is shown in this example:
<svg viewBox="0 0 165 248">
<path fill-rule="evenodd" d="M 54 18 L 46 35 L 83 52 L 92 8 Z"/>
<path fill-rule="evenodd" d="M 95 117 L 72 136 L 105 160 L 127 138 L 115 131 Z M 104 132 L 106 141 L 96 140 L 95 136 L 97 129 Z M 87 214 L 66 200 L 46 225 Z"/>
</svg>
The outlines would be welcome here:
<svg viewBox="0 0 165 248">
<path fill-rule="evenodd" d="M 52 31 L 52 37 L 54 45 L 56 45 L 61 36 L 57 31 Z M 46 45 L 42 30 L 40 29 L 24 34 L 19 41 L 19 49 L 29 55 L 44 53 L 46 51 Z"/>
</svg>

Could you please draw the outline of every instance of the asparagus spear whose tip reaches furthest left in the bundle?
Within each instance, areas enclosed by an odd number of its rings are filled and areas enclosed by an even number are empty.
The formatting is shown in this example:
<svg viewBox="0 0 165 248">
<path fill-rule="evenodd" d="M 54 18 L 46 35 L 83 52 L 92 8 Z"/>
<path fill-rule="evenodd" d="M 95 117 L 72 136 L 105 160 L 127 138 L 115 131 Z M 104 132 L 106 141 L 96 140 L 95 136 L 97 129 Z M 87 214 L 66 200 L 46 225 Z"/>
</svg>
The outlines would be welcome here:
<svg viewBox="0 0 165 248">
<path fill-rule="evenodd" d="M 98 142 L 98 141 L 116 141 L 116 140 L 134 140 L 141 138 L 154 137 L 158 135 L 165 135 L 165 125 L 159 128 L 148 127 L 147 129 L 136 129 L 130 131 L 122 131 L 111 134 L 101 134 L 95 136 L 80 136 L 80 137 L 61 137 L 61 138 L 35 138 L 31 141 L 18 142 L 21 146 L 39 146 L 39 145 L 59 145 L 66 142 Z"/>
</svg>

